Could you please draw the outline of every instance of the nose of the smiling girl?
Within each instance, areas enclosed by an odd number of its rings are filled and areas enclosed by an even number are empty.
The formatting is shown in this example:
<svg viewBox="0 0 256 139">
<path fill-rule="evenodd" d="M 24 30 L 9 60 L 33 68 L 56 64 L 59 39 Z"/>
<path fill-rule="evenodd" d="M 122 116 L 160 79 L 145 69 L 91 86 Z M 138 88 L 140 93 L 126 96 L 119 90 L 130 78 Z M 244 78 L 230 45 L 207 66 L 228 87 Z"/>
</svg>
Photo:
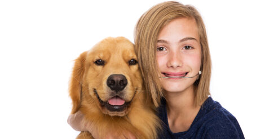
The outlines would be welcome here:
<svg viewBox="0 0 256 139">
<path fill-rule="evenodd" d="M 182 56 L 179 52 L 171 52 L 169 54 L 169 59 L 167 61 L 167 67 L 169 68 L 178 68 L 182 66 Z"/>
</svg>

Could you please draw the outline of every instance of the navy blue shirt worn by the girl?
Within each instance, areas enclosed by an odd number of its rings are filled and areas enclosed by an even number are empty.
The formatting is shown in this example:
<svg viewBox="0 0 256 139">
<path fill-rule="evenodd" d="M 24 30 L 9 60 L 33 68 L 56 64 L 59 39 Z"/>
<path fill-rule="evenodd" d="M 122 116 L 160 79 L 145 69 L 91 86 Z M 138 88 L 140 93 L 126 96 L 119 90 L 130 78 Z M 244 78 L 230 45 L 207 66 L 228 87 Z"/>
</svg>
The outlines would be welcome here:
<svg viewBox="0 0 256 139">
<path fill-rule="evenodd" d="M 236 118 L 224 109 L 219 102 L 211 97 L 202 104 L 196 118 L 193 120 L 188 131 L 172 133 L 169 128 L 166 101 L 161 101 L 158 107 L 158 116 L 162 120 L 163 131 L 158 138 L 244 138 Z"/>
</svg>

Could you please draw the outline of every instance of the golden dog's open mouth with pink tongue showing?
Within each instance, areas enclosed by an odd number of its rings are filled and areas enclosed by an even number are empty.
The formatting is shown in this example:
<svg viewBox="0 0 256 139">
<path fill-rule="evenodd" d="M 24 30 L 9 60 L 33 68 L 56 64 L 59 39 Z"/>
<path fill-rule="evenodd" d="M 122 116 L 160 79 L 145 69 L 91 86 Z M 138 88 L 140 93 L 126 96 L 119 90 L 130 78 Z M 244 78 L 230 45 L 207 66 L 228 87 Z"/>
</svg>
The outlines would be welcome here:
<svg viewBox="0 0 256 139">
<path fill-rule="evenodd" d="M 103 101 L 100 99 L 96 89 L 94 89 L 94 93 L 95 93 L 96 97 L 98 98 L 100 105 L 102 107 L 107 108 L 109 111 L 117 111 L 117 112 L 123 111 L 130 105 L 130 102 L 131 102 L 131 101 L 126 102 L 119 96 L 114 96 L 114 97 L 110 98 L 108 101 Z"/>
</svg>

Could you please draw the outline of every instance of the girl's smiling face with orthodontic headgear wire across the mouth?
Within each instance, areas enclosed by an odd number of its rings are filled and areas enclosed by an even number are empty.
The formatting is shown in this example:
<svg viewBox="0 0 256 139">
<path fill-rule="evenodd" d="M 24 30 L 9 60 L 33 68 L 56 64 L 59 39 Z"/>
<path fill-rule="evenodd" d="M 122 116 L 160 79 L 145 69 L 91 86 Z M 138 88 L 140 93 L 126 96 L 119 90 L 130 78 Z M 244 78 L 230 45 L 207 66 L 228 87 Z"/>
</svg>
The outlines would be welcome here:
<svg viewBox="0 0 256 139">
<path fill-rule="evenodd" d="M 161 77 L 193 77 L 201 65 L 201 46 L 195 19 L 178 18 L 158 35 L 156 58 Z M 193 89 L 194 78 L 160 78 L 167 92 Z"/>
</svg>

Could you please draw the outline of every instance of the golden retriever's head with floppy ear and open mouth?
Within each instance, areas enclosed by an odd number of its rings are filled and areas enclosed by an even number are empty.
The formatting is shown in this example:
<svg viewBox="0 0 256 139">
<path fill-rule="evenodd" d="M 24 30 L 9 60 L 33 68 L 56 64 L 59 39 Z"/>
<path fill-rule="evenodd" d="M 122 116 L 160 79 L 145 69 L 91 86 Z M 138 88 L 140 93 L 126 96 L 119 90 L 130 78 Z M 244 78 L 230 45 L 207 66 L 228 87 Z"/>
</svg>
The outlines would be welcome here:
<svg viewBox="0 0 256 139">
<path fill-rule="evenodd" d="M 72 113 L 90 104 L 104 114 L 126 115 L 141 89 L 133 43 L 123 37 L 109 37 L 82 53 L 74 64 L 70 82 Z"/>
</svg>

